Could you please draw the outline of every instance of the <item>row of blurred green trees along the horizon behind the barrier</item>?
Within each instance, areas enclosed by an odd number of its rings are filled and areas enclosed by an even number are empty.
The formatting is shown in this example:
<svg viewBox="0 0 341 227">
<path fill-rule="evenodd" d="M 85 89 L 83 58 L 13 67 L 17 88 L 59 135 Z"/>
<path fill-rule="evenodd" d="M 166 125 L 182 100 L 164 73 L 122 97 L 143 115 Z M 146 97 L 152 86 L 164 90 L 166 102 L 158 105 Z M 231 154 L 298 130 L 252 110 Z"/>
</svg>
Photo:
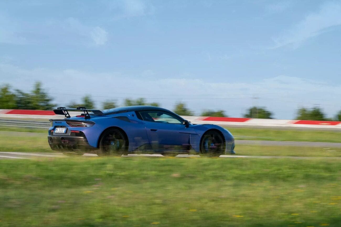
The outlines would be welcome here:
<svg viewBox="0 0 341 227">
<path fill-rule="evenodd" d="M 5 84 L 0 88 L 0 109 L 18 109 L 18 110 L 51 110 L 55 107 L 53 99 L 42 88 L 40 82 L 36 82 L 31 92 L 26 93 L 19 89 L 12 90 L 9 84 Z M 95 104 L 90 95 L 81 98 L 81 102 L 70 102 L 66 107 L 86 107 L 94 109 Z M 148 103 L 144 98 L 124 99 L 122 106 L 160 106 L 157 102 Z M 115 100 L 106 100 L 102 103 L 102 109 L 111 109 L 119 107 Z M 179 102 L 175 104 L 173 111 L 182 116 L 193 116 L 193 111 L 189 110 L 185 103 Z M 224 110 L 204 110 L 201 116 L 211 117 L 228 117 Z M 251 107 L 243 117 L 246 118 L 264 118 L 272 119 L 273 113 L 265 107 Z M 338 120 L 341 121 L 341 110 L 334 118 L 327 118 L 325 113 L 319 107 L 299 108 L 296 112 L 296 119 L 299 120 Z"/>
</svg>

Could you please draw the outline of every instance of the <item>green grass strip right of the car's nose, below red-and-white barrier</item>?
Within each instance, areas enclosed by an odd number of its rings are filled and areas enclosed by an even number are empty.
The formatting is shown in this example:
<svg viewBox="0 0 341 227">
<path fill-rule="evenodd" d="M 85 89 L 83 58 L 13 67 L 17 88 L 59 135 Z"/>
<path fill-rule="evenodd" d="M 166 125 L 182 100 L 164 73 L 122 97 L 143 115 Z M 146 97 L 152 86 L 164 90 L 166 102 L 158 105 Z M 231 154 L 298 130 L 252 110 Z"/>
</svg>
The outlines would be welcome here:
<svg viewBox="0 0 341 227">
<path fill-rule="evenodd" d="M 227 128 L 236 140 L 308 141 L 341 143 L 341 130 Z"/>
</svg>

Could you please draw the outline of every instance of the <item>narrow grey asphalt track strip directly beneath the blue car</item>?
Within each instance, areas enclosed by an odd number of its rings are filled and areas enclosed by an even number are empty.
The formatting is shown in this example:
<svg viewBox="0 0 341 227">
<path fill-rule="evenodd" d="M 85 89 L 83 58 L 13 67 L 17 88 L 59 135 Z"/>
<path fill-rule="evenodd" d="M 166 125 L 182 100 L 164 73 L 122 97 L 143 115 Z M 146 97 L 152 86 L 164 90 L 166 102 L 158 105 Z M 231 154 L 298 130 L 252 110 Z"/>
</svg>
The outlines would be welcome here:
<svg viewBox="0 0 341 227">
<path fill-rule="evenodd" d="M 39 158 L 68 158 L 62 153 L 38 153 L 38 152 L 0 152 L 0 159 L 39 159 Z M 92 153 L 85 153 L 82 157 L 97 157 L 97 155 Z M 133 158 L 133 157 L 164 157 L 161 154 L 145 154 L 145 155 L 135 155 L 129 154 L 127 156 L 122 156 L 122 158 Z M 199 158 L 199 155 L 178 155 L 177 158 Z M 245 156 L 245 155 L 221 155 L 220 158 L 261 158 L 261 159 L 279 159 L 279 158 L 289 158 L 289 159 L 340 159 L 341 157 L 297 157 L 297 156 Z"/>
</svg>

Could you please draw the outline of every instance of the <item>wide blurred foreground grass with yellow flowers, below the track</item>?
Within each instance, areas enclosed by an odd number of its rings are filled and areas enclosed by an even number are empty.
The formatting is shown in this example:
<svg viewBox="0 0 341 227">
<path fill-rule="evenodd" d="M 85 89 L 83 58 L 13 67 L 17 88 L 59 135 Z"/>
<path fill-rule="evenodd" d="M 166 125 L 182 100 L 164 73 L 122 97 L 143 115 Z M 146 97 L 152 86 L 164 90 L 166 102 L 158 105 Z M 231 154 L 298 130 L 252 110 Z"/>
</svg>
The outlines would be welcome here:
<svg viewBox="0 0 341 227">
<path fill-rule="evenodd" d="M 341 226 L 338 160 L 0 160 L 1 226 Z"/>
</svg>

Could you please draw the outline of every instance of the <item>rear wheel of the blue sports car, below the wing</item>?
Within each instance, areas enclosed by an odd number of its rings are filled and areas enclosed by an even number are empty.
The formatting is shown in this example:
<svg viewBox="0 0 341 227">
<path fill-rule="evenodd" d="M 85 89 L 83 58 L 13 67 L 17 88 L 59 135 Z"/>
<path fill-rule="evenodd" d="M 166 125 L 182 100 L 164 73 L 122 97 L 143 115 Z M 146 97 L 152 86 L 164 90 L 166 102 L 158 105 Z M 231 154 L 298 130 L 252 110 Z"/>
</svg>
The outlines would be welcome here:
<svg viewBox="0 0 341 227">
<path fill-rule="evenodd" d="M 106 130 L 100 140 L 100 149 L 96 150 L 98 156 L 128 155 L 128 139 L 119 129 Z"/>
</svg>

